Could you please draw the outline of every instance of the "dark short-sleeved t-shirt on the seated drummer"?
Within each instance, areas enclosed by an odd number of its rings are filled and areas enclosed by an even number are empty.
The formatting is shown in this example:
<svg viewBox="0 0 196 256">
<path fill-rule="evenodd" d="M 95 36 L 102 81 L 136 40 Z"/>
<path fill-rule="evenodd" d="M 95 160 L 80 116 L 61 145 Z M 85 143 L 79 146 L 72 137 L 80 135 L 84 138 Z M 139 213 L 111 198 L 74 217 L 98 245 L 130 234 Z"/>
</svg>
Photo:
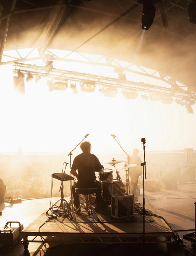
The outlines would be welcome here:
<svg viewBox="0 0 196 256">
<path fill-rule="evenodd" d="M 95 172 L 102 169 L 102 165 L 96 155 L 82 153 L 74 158 L 71 169 L 78 170 L 78 181 L 87 184 L 96 180 Z"/>
</svg>

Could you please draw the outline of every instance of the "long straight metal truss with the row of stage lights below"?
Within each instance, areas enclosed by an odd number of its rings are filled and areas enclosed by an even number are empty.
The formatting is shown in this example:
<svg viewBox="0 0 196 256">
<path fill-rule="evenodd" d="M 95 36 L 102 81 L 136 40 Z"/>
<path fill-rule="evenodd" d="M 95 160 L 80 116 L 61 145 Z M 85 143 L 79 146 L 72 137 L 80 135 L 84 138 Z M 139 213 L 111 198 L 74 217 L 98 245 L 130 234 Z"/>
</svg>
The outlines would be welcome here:
<svg viewBox="0 0 196 256">
<path fill-rule="evenodd" d="M 126 81 L 125 83 L 121 83 L 121 81 L 118 78 L 111 78 L 111 77 L 105 77 L 105 76 L 97 76 L 97 75 L 91 75 L 86 73 L 80 73 L 75 71 L 68 71 L 68 70 L 62 70 L 62 69 L 51 69 L 51 70 L 45 70 L 42 66 L 37 65 L 31 65 L 31 64 L 25 64 L 25 63 L 14 63 L 13 65 L 13 73 L 17 74 L 18 71 L 21 71 L 22 74 L 27 74 L 28 72 L 31 73 L 31 75 L 40 75 L 42 77 L 46 78 L 52 78 L 56 80 L 64 81 L 67 79 L 68 81 L 72 82 L 78 82 L 83 83 L 86 81 L 91 81 L 95 85 L 102 86 L 102 88 L 121 88 L 125 89 L 127 91 L 132 92 L 148 92 L 152 94 L 152 92 L 161 93 L 162 96 L 165 97 L 176 97 L 181 99 L 194 99 L 196 101 L 196 95 L 193 92 L 185 91 L 183 89 L 176 90 L 174 88 L 167 88 L 167 87 L 160 87 L 157 85 L 151 85 L 146 84 L 143 82 L 133 82 L 133 81 Z"/>
</svg>

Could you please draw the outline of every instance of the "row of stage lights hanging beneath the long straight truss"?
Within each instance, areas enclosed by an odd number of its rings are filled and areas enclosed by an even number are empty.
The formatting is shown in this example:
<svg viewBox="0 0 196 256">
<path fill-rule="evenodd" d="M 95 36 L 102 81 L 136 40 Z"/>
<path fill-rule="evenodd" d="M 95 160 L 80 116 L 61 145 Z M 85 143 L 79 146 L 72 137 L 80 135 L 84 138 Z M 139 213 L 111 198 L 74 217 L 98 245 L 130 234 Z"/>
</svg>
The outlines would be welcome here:
<svg viewBox="0 0 196 256">
<path fill-rule="evenodd" d="M 18 76 L 15 77 L 15 89 L 18 90 L 21 93 L 25 93 L 25 83 L 24 83 L 25 75 L 22 74 L 22 72 L 18 71 Z M 27 73 L 26 81 L 30 82 L 34 79 L 34 76 L 30 74 L 30 72 Z M 38 83 L 41 79 L 40 75 L 37 75 L 35 77 L 35 83 Z M 63 81 L 51 81 L 48 79 L 47 85 L 49 88 L 49 91 L 52 92 L 54 90 L 57 91 L 66 91 L 68 89 L 68 83 Z M 93 93 L 96 88 L 96 84 L 93 81 L 89 81 L 89 83 L 83 82 L 80 83 L 80 89 L 83 92 L 90 92 Z M 70 89 L 72 90 L 73 94 L 77 94 L 78 90 L 75 84 L 70 84 Z M 100 93 L 102 93 L 106 97 L 116 97 L 118 90 L 116 88 L 107 88 L 103 87 L 98 89 Z M 122 90 L 122 94 L 126 99 L 136 99 L 138 97 L 137 91 L 127 91 L 125 89 Z M 164 96 L 161 92 L 151 92 L 146 94 L 142 94 L 141 98 L 144 100 L 150 99 L 151 101 L 159 102 L 161 101 L 163 104 L 171 104 L 173 103 L 174 99 L 173 97 L 167 97 Z M 193 109 L 191 105 L 195 104 L 195 101 L 193 99 L 187 98 L 187 99 L 175 99 L 175 102 L 181 106 L 185 106 L 188 113 L 193 113 Z"/>
</svg>

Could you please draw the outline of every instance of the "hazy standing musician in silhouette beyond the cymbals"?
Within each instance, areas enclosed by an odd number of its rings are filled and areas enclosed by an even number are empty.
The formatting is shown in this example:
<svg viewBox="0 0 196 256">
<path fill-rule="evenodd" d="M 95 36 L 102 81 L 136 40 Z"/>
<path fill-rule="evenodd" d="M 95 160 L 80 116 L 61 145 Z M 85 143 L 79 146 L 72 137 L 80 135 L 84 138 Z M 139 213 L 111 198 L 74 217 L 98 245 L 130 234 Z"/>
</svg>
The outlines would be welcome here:
<svg viewBox="0 0 196 256">
<path fill-rule="evenodd" d="M 133 155 L 130 156 L 131 160 L 127 159 L 128 164 L 136 164 L 136 166 L 129 169 L 131 186 L 132 186 L 131 194 L 134 195 L 134 201 L 138 201 L 138 197 L 137 195 L 135 195 L 135 193 L 138 185 L 139 176 L 142 175 L 142 166 L 141 166 L 142 160 L 140 157 L 138 157 L 138 153 L 139 153 L 139 150 L 137 148 L 134 148 Z"/>
</svg>

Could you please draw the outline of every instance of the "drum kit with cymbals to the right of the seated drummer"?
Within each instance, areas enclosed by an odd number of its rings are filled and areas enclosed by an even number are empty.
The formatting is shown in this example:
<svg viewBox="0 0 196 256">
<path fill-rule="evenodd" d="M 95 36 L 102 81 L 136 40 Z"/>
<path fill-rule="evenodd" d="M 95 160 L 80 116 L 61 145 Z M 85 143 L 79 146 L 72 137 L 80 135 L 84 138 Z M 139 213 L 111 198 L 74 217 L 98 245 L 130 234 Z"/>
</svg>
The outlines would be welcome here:
<svg viewBox="0 0 196 256">
<path fill-rule="evenodd" d="M 102 197 L 104 201 L 104 206 L 111 205 L 111 195 L 118 195 L 121 193 L 129 192 L 128 191 L 128 185 L 129 185 L 129 177 L 128 177 L 128 168 L 132 168 L 136 165 L 134 164 L 124 164 L 119 167 L 115 167 L 115 164 L 120 164 L 121 162 L 125 162 L 125 160 L 115 160 L 114 158 L 111 161 L 106 161 L 104 164 L 109 164 L 111 166 L 114 166 L 114 169 L 116 170 L 117 177 L 116 179 L 113 179 L 113 170 L 112 169 L 103 169 L 102 172 L 99 172 L 99 181 L 102 184 Z M 126 189 L 125 185 L 123 184 L 122 179 L 120 178 L 119 171 L 125 170 L 126 171 Z M 93 205 L 95 205 L 95 195 L 90 196 L 90 201 Z"/>
</svg>

